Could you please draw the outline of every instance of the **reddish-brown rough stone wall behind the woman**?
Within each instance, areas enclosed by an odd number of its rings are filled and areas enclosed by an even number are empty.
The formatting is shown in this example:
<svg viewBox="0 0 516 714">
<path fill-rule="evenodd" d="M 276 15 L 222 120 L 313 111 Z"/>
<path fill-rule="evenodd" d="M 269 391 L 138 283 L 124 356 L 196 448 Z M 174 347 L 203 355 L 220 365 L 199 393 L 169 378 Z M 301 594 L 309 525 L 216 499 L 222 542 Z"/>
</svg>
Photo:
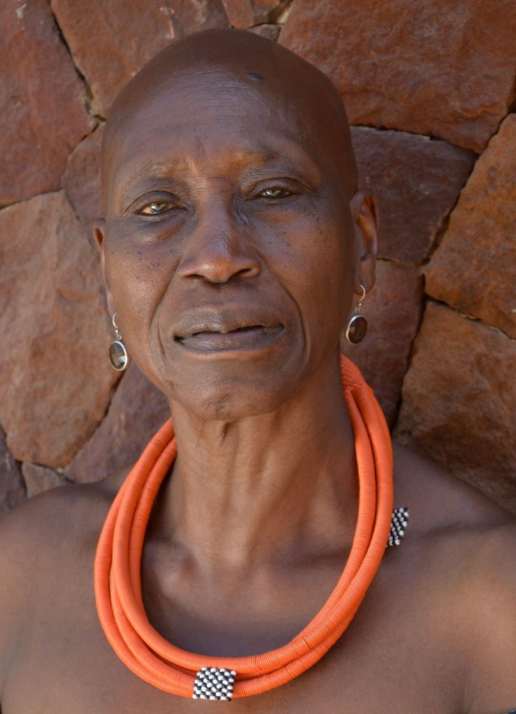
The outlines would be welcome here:
<svg viewBox="0 0 516 714">
<path fill-rule="evenodd" d="M 153 54 L 226 26 L 309 59 L 348 107 L 381 235 L 346 351 L 395 438 L 516 511 L 515 20 L 512 0 L 5 0 L 0 512 L 128 465 L 168 416 L 136 366 L 108 366 L 99 145 Z"/>
</svg>

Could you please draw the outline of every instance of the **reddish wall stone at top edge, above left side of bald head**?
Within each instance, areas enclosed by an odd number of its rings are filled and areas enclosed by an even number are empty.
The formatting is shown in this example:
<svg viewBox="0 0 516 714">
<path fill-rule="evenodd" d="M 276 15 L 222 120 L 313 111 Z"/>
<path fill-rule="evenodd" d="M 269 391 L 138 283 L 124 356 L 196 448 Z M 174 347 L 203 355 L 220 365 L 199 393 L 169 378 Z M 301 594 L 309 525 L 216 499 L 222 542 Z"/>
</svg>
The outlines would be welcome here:
<svg viewBox="0 0 516 714">
<path fill-rule="evenodd" d="M 123 85 L 173 39 L 228 26 L 221 0 L 148 0 L 144 6 L 134 0 L 52 0 L 51 6 L 101 116 Z"/>
</svg>

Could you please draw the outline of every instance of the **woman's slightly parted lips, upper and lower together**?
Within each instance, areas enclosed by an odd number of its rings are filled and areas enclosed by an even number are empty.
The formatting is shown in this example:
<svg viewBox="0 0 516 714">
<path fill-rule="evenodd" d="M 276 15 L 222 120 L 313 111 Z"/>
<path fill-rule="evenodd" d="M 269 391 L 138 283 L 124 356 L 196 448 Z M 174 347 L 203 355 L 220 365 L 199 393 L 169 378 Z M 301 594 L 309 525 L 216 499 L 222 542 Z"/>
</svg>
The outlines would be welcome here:
<svg viewBox="0 0 516 714">
<path fill-rule="evenodd" d="M 278 318 L 265 311 L 205 309 L 180 321 L 173 339 L 196 352 L 253 350 L 273 343 L 283 330 Z"/>
</svg>

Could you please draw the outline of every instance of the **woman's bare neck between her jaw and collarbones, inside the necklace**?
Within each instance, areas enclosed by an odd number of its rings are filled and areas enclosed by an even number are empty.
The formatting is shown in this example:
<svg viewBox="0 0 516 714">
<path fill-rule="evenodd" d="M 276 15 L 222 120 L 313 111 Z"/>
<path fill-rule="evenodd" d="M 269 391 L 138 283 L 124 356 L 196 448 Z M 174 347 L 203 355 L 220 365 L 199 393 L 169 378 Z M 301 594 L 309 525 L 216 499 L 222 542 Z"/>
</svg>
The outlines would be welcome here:
<svg viewBox="0 0 516 714">
<path fill-rule="evenodd" d="M 206 568 L 349 548 L 358 509 L 338 358 L 278 411 L 202 421 L 171 403 L 178 456 L 155 526 Z"/>
</svg>

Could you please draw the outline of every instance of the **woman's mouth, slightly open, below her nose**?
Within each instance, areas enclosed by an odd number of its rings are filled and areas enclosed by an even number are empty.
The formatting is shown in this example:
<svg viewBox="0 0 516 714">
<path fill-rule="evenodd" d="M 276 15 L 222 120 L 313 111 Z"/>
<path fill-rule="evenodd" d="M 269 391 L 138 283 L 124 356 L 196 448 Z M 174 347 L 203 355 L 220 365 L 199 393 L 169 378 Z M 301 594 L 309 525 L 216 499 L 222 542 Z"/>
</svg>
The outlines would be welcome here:
<svg viewBox="0 0 516 714">
<path fill-rule="evenodd" d="M 242 323 L 243 322 L 243 323 Z M 174 341 L 181 346 L 201 352 L 251 350 L 268 346 L 280 333 L 283 325 L 254 321 L 211 321 L 178 331 Z"/>
</svg>

